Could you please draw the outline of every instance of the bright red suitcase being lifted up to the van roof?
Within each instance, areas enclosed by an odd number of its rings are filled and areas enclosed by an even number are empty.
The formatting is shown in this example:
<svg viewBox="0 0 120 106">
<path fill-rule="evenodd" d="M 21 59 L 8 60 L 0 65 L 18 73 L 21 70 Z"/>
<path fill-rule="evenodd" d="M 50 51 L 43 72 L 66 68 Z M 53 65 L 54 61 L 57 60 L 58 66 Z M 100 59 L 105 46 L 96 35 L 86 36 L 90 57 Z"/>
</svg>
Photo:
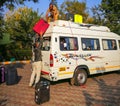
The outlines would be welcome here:
<svg viewBox="0 0 120 106">
<path fill-rule="evenodd" d="M 46 30 L 48 29 L 49 24 L 44 21 L 43 19 L 40 19 L 33 27 L 33 30 L 40 34 L 41 36 L 46 32 Z"/>
</svg>

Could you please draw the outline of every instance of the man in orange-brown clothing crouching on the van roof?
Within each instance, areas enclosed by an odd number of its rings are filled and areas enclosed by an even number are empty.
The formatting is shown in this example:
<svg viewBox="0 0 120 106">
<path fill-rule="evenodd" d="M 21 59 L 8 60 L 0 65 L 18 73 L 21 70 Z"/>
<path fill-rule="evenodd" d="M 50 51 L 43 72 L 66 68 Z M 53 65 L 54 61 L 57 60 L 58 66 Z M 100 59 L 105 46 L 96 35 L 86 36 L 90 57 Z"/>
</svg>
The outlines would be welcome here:
<svg viewBox="0 0 120 106">
<path fill-rule="evenodd" d="M 58 20 L 58 15 L 59 15 L 59 12 L 57 7 L 54 5 L 53 2 L 51 2 L 46 12 L 46 21 L 49 23 L 51 20 L 52 21 Z"/>
</svg>

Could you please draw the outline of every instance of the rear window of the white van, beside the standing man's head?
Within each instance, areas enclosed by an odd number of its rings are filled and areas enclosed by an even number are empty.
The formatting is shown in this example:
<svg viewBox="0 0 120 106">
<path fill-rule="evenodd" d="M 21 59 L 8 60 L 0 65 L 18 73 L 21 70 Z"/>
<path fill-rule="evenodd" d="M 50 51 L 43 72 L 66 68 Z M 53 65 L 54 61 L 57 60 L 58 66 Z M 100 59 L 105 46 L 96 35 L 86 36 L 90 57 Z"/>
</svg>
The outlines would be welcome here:
<svg viewBox="0 0 120 106">
<path fill-rule="evenodd" d="M 50 42 L 51 42 L 51 37 L 43 37 L 42 50 L 49 51 L 50 50 Z"/>
</svg>

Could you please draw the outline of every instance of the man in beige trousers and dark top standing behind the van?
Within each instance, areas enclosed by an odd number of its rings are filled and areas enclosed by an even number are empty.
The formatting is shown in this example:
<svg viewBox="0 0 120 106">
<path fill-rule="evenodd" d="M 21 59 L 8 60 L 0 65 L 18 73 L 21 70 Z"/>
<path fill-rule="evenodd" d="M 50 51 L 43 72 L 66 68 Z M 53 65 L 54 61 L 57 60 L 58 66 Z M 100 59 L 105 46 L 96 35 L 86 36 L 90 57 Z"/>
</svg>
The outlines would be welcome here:
<svg viewBox="0 0 120 106">
<path fill-rule="evenodd" d="M 30 78 L 29 87 L 35 87 L 35 85 L 40 80 L 41 70 L 42 70 L 42 37 L 37 36 L 34 44 L 34 59 L 32 63 L 32 74 Z"/>
</svg>

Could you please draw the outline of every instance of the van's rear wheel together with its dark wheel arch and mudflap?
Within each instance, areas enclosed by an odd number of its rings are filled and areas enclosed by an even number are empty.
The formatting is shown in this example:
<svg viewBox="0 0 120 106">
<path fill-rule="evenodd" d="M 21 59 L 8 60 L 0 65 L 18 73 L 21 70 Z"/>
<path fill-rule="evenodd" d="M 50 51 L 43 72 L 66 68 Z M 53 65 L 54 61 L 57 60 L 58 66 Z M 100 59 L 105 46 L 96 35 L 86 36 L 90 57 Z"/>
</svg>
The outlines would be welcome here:
<svg viewBox="0 0 120 106">
<path fill-rule="evenodd" d="M 89 75 L 89 68 L 86 65 L 76 67 L 73 78 L 70 80 L 71 85 L 84 85 Z"/>
</svg>

